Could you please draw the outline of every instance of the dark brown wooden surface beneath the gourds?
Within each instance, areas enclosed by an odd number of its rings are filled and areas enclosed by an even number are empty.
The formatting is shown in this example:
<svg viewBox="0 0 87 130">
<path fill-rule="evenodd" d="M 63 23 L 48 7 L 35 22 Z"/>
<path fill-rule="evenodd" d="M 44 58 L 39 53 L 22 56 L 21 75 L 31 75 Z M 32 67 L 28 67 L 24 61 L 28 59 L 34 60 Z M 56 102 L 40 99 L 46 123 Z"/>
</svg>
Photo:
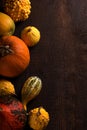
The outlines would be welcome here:
<svg viewBox="0 0 87 130">
<path fill-rule="evenodd" d="M 29 19 L 16 24 L 14 35 L 20 37 L 24 27 L 33 25 L 41 39 L 30 49 L 28 68 L 10 80 L 20 98 L 29 76 L 42 79 L 42 91 L 28 109 L 43 106 L 49 112 L 46 130 L 86 130 L 87 0 L 31 0 L 31 4 Z"/>
</svg>

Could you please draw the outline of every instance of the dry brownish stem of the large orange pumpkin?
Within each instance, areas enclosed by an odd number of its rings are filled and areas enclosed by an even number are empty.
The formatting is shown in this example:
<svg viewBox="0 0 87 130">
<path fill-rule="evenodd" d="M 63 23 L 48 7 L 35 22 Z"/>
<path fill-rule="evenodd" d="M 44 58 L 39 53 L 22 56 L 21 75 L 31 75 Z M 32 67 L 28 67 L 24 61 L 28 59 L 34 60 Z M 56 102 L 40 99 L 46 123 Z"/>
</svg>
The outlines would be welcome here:
<svg viewBox="0 0 87 130">
<path fill-rule="evenodd" d="M 12 49 L 10 49 L 9 45 L 0 46 L 0 57 L 6 56 L 11 53 L 14 53 L 14 51 Z"/>
</svg>

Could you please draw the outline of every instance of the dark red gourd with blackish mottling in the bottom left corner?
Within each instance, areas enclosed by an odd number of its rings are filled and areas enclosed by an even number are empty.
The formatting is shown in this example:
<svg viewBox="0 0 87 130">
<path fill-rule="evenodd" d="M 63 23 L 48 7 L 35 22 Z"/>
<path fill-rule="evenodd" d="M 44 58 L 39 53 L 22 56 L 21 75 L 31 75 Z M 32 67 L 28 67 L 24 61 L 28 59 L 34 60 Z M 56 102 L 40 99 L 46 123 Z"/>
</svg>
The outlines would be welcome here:
<svg viewBox="0 0 87 130">
<path fill-rule="evenodd" d="M 0 97 L 0 130 L 23 130 L 26 121 L 26 112 L 17 98 Z"/>
</svg>

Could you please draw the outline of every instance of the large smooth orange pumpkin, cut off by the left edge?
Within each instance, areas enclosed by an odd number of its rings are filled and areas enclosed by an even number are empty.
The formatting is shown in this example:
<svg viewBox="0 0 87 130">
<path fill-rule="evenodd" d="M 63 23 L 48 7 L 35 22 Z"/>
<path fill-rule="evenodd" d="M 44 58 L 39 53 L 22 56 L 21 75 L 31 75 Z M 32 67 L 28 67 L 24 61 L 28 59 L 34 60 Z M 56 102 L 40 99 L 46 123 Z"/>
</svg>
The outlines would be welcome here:
<svg viewBox="0 0 87 130">
<path fill-rule="evenodd" d="M 0 39 L 0 75 L 15 77 L 21 74 L 30 62 L 27 45 L 17 36 Z"/>
</svg>

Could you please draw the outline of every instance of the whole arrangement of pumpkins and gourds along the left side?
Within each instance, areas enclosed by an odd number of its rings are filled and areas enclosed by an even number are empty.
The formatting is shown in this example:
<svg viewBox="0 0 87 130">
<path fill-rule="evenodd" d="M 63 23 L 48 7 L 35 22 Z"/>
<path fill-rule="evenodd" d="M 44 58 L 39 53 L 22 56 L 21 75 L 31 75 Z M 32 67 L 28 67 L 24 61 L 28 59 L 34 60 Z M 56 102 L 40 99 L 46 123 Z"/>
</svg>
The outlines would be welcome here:
<svg viewBox="0 0 87 130">
<path fill-rule="evenodd" d="M 30 76 L 21 90 L 21 101 L 15 86 L 6 78 L 14 78 L 28 67 L 29 48 L 40 41 L 40 31 L 35 26 L 25 27 L 20 38 L 14 35 L 16 22 L 25 21 L 31 13 L 29 0 L 3 0 L 0 12 L 0 130 L 23 130 L 26 123 L 33 130 L 43 130 L 49 123 L 49 113 L 43 107 L 28 111 L 27 104 L 42 89 L 42 80 Z"/>
</svg>

